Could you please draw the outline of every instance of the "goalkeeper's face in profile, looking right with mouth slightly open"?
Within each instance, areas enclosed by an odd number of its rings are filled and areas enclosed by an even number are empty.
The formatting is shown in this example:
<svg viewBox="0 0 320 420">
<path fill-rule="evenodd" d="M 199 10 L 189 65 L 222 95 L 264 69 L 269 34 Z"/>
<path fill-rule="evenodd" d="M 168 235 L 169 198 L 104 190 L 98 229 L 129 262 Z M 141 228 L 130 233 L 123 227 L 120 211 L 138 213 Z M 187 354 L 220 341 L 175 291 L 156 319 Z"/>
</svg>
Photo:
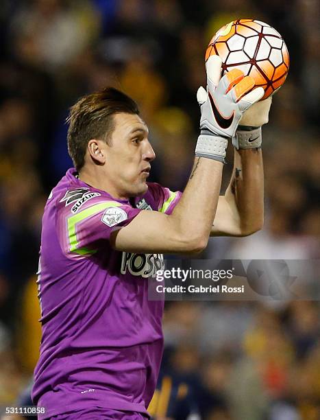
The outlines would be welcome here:
<svg viewBox="0 0 320 420">
<path fill-rule="evenodd" d="M 114 131 L 106 145 L 106 176 L 120 197 L 134 197 L 147 191 L 151 161 L 156 154 L 148 140 L 149 130 L 136 114 L 113 116 Z"/>
</svg>

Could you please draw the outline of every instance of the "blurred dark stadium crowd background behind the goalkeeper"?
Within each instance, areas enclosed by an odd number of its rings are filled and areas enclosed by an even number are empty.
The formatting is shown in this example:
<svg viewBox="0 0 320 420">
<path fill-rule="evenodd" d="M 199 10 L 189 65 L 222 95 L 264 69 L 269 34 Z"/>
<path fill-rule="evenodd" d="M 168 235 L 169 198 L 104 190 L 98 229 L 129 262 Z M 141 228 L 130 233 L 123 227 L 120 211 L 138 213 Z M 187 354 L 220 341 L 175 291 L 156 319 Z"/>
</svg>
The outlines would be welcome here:
<svg viewBox="0 0 320 420">
<path fill-rule="evenodd" d="M 210 240 L 205 257 L 320 257 L 319 10 L 318 0 L 1 0 L 0 406 L 14 404 L 38 358 L 40 223 L 71 166 L 67 109 L 123 89 L 151 129 L 152 180 L 184 188 L 206 46 L 233 19 L 275 27 L 291 69 L 263 129 L 264 229 Z M 164 332 L 164 368 L 193 388 L 203 419 L 320 419 L 319 302 L 171 302 Z"/>
</svg>

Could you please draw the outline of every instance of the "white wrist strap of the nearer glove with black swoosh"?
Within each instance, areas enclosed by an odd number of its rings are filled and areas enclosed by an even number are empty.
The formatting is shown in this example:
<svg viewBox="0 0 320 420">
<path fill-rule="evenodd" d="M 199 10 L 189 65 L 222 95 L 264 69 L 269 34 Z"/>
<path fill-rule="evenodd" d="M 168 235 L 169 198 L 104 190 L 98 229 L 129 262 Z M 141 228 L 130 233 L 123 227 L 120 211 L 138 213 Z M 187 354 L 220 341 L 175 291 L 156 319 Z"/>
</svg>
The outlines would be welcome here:
<svg viewBox="0 0 320 420">
<path fill-rule="evenodd" d="M 196 156 L 225 163 L 226 150 L 227 139 L 225 137 L 217 137 L 212 135 L 210 131 L 201 130 L 195 148 Z"/>
</svg>

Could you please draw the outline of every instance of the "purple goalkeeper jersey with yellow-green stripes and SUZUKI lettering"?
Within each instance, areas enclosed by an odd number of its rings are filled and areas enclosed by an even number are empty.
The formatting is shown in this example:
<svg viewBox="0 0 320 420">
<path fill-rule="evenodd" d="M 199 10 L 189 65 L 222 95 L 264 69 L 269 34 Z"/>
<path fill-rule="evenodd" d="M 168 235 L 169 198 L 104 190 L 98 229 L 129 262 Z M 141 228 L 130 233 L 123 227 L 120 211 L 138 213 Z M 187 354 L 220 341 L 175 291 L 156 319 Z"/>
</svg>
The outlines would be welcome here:
<svg viewBox="0 0 320 420">
<path fill-rule="evenodd" d="M 142 209 L 171 213 L 181 193 L 148 183 L 116 200 L 76 178 L 53 189 L 42 218 L 38 272 L 42 340 L 34 404 L 45 419 L 99 406 L 146 412 L 162 358 L 163 301 L 148 301 L 162 255 L 122 253 L 110 233 Z"/>
</svg>

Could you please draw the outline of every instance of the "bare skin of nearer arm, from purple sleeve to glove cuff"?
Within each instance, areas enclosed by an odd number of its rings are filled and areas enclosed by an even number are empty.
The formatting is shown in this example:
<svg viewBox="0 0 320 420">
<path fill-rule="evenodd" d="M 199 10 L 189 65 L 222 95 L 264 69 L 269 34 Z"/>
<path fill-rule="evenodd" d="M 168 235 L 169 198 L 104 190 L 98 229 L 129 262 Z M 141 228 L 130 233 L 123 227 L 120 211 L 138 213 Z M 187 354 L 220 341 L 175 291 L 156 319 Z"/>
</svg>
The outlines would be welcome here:
<svg viewBox="0 0 320 420">
<path fill-rule="evenodd" d="M 188 185 L 173 213 L 141 211 L 130 224 L 112 234 L 114 248 L 139 253 L 197 253 L 206 248 L 218 204 L 222 167 L 219 161 L 196 157 Z"/>
</svg>

